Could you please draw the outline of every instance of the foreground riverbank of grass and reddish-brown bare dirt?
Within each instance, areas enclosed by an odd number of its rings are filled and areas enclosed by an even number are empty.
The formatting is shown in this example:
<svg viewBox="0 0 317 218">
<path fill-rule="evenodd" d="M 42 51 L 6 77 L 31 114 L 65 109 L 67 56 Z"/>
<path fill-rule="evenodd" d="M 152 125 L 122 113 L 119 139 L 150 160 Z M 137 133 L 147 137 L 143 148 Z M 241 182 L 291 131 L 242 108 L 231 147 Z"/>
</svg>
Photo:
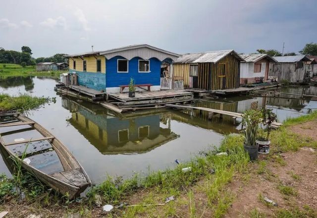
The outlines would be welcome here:
<svg viewBox="0 0 317 218">
<path fill-rule="evenodd" d="M 3 195 L 0 211 L 8 217 L 316 217 L 317 112 L 288 119 L 271 134 L 271 151 L 249 163 L 239 135 L 227 136 L 217 151 L 206 151 L 175 169 L 135 175 L 122 181 L 109 178 L 92 188 L 85 199 L 31 192 L 19 203 Z M 228 156 L 215 156 L 227 152 Z M 182 168 L 191 167 L 183 172 Z M 315 174 L 314 174 L 315 173 Z M 2 179 L 1 181 L 7 181 Z M 0 193 L 5 192 L 3 182 Z M 7 186 L 5 186 L 7 187 Z M 2 192 L 1 192 L 2 191 Z M 175 200 L 164 204 L 167 197 Z M 264 202 L 267 197 L 277 207 Z M 106 204 L 139 205 L 102 211 Z M 142 206 L 142 205 L 156 206 Z"/>
</svg>

